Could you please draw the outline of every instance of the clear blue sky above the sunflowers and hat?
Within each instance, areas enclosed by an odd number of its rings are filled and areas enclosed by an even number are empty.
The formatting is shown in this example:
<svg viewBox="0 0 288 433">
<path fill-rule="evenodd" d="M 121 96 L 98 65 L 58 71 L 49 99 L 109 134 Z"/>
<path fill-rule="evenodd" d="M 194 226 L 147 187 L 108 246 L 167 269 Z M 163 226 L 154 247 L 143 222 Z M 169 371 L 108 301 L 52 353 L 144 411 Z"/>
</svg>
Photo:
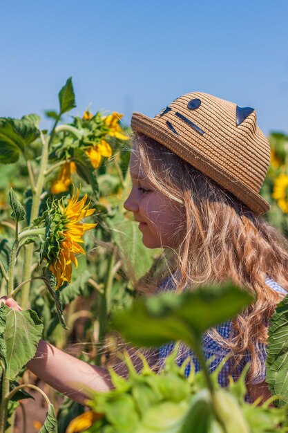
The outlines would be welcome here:
<svg viewBox="0 0 288 433">
<path fill-rule="evenodd" d="M 72 75 L 73 114 L 128 123 L 204 91 L 288 132 L 287 0 L 0 0 L 0 15 L 0 116 L 44 118 Z"/>
</svg>

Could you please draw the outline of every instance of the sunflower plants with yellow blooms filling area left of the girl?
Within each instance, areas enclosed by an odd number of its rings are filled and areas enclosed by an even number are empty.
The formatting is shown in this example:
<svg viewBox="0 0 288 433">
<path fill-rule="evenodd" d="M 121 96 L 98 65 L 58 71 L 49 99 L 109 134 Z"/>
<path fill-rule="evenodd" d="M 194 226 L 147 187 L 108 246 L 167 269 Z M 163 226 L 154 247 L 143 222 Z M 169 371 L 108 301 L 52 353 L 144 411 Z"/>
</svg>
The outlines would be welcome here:
<svg viewBox="0 0 288 433">
<path fill-rule="evenodd" d="M 87 110 L 64 122 L 74 107 L 69 78 L 58 111 L 46 112 L 50 131 L 39 128 L 36 114 L 0 118 L 0 295 L 23 308 L 0 308 L 1 433 L 13 431 L 17 406 L 24 411 L 27 390 L 35 389 L 24 366 L 39 339 L 71 352 L 73 343 L 84 342 L 75 355 L 105 363 L 115 352 L 114 340 L 106 342 L 109 317 L 131 303 L 135 279 L 157 255 L 142 246 L 123 208 L 130 142 L 122 115 Z M 39 431 L 54 432 L 57 396 L 49 393 Z M 59 423 L 77 411 L 83 407 L 72 401 L 61 409 L 57 403 Z"/>
</svg>

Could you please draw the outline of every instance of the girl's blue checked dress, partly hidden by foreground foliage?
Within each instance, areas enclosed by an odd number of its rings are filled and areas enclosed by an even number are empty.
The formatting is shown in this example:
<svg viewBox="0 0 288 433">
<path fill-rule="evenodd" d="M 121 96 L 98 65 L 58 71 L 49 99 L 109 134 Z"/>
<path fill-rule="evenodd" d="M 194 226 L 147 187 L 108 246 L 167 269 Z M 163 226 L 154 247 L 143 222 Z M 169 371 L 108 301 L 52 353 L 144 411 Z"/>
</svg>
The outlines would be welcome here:
<svg viewBox="0 0 288 433">
<path fill-rule="evenodd" d="M 164 279 L 160 287 L 160 291 L 171 290 L 172 287 L 171 285 L 169 285 L 169 282 L 170 282 L 170 278 Z M 281 293 L 283 296 L 287 295 L 287 292 L 278 284 L 276 284 L 276 282 L 274 282 L 272 279 L 267 278 L 266 284 L 269 285 L 278 293 Z M 215 329 L 222 336 L 222 338 L 228 339 L 231 333 L 231 321 L 223 322 L 222 324 L 215 326 Z M 162 347 L 160 347 L 159 349 L 160 365 L 163 365 L 164 359 L 166 358 L 166 356 L 169 355 L 169 353 L 171 353 L 171 351 L 173 351 L 174 347 L 175 347 L 175 343 L 164 344 Z M 259 343 L 256 349 L 258 350 L 258 356 L 261 360 L 262 365 L 265 366 L 265 360 L 267 356 L 265 344 Z M 204 353 L 204 357 L 206 360 L 209 360 L 211 356 L 215 356 L 215 359 L 209 365 L 209 369 L 211 372 L 218 367 L 220 362 L 223 360 L 224 356 L 226 356 L 229 353 L 228 349 L 224 349 L 223 347 L 221 347 L 220 344 L 218 344 L 218 342 L 215 342 L 211 338 L 211 336 L 206 333 L 203 335 L 202 338 L 202 351 Z M 199 371 L 200 370 L 199 360 L 194 356 L 193 351 L 191 350 L 185 351 L 184 356 L 180 357 L 180 359 L 177 360 L 177 363 L 181 365 L 182 362 L 184 362 L 184 360 L 188 356 L 191 356 L 191 359 L 193 360 L 195 371 Z M 231 363 L 229 362 L 229 360 L 225 362 L 224 367 L 222 367 L 220 374 L 218 375 L 218 382 L 220 383 L 220 385 L 222 387 L 227 387 L 229 383 L 228 381 L 229 375 L 231 375 L 234 380 L 237 380 L 240 377 L 240 374 L 244 369 L 244 366 L 247 364 L 247 362 L 249 362 L 249 360 L 251 360 L 251 356 L 249 354 L 249 351 L 247 351 L 247 353 L 242 358 L 240 364 L 236 367 L 236 369 L 233 370 L 232 374 L 230 372 Z M 191 364 L 189 363 L 186 366 L 185 375 L 189 376 L 190 371 L 191 371 Z M 261 383 L 263 382 L 263 380 L 265 380 L 265 376 L 266 376 L 265 368 L 263 368 L 262 371 L 263 373 L 253 380 L 253 384 Z"/>
</svg>

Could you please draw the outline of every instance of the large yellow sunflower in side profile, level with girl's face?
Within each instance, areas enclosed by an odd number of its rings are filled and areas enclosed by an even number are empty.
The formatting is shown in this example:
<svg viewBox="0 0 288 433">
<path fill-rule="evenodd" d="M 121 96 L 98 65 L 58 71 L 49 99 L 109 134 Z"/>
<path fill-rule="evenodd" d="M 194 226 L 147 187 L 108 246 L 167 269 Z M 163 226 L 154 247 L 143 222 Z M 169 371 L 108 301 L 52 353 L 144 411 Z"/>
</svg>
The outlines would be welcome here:
<svg viewBox="0 0 288 433">
<path fill-rule="evenodd" d="M 95 228 L 97 224 L 81 223 L 81 219 L 90 216 L 95 209 L 88 209 L 87 194 L 79 200 L 80 191 L 73 188 L 73 194 L 66 207 L 63 201 L 54 202 L 50 210 L 50 228 L 46 239 L 46 257 L 49 269 L 55 275 L 57 288 L 64 282 L 71 282 L 72 264 L 77 268 L 75 255 L 85 254 L 79 245 L 83 243 L 83 235 L 87 230 Z"/>
</svg>

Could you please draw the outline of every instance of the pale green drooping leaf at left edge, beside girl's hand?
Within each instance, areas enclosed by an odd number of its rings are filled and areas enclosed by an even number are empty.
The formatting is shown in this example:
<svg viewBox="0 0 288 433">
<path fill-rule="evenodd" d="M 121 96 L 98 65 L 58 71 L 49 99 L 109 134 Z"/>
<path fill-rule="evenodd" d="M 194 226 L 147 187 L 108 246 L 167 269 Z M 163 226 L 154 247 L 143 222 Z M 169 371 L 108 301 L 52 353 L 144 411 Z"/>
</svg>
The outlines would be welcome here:
<svg viewBox="0 0 288 433">
<path fill-rule="evenodd" d="M 43 324 L 35 311 L 8 310 L 4 332 L 7 347 L 6 375 L 13 380 L 35 355 Z"/>
</svg>

